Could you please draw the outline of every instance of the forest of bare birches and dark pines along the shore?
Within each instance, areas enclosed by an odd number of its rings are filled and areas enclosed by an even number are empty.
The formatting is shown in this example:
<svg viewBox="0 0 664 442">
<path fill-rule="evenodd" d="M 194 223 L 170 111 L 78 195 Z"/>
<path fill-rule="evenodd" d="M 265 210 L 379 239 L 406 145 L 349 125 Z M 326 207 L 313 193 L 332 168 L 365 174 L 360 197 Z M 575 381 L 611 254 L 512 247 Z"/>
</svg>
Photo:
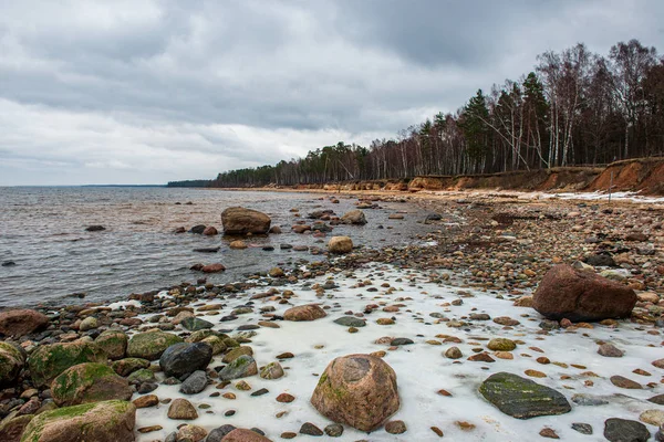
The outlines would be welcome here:
<svg viewBox="0 0 664 442">
<path fill-rule="evenodd" d="M 637 40 L 608 55 L 579 43 L 544 52 L 532 72 L 455 113 L 438 113 L 394 139 L 345 144 L 274 166 L 168 185 L 260 187 L 492 173 L 664 155 L 664 57 Z"/>
</svg>

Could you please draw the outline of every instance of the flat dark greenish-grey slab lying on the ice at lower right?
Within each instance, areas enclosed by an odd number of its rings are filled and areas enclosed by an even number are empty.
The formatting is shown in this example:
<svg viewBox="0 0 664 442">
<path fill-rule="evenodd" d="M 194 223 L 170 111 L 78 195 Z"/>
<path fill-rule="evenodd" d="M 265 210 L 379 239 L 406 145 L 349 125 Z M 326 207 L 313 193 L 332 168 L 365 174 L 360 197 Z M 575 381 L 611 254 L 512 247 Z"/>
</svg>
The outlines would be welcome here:
<svg viewBox="0 0 664 442">
<path fill-rule="evenodd" d="M 508 372 L 489 376 L 479 386 L 479 392 L 505 414 L 517 419 L 564 414 L 572 409 L 566 397 L 552 388 Z"/>
</svg>

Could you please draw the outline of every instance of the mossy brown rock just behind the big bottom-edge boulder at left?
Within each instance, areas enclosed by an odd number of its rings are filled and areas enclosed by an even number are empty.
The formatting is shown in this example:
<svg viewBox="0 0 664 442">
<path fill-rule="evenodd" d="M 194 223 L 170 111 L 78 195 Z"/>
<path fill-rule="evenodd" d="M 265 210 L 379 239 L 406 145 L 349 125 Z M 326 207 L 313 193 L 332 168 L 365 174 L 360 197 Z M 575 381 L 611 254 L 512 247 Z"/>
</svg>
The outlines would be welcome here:
<svg viewBox="0 0 664 442">
<path fill-rule="evenodd" d="M 79 364 L 64 370 L 51 383 L 59 407 L 107 400 L 127 401 L 133 391 L 126 379 L 104 364 Z"/>
</svg>

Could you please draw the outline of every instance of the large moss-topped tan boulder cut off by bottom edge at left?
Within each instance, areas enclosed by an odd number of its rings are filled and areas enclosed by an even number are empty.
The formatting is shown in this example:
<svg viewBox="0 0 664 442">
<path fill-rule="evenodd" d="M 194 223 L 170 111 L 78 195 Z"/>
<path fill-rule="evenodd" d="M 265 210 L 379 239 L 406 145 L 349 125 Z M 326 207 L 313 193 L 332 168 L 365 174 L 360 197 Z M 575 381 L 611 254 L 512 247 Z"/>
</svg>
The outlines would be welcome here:
<svg viewBox="0 0 664 442">
<path fill-rule="evenodd" d="M 37 415 L 21 442 L 133 442 L 136 407 L 104 401 L 65 407 Z"/>
</svg>

